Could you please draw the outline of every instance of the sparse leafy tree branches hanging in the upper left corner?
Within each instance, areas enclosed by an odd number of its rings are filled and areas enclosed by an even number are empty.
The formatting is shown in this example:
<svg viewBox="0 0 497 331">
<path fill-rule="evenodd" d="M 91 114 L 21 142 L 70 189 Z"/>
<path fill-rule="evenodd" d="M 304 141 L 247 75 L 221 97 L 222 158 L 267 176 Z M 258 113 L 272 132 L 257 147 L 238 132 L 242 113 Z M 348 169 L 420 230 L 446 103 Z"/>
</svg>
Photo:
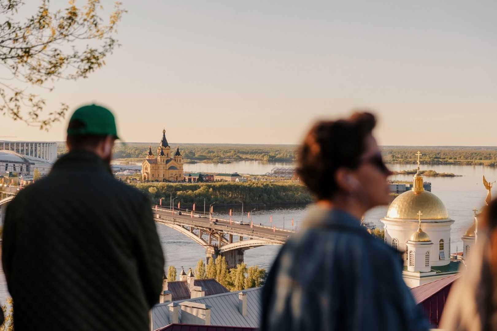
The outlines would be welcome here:
<svg viewBox="0 0 497 331">
<path fill-rule="evenodd" d="M 0 78 L 0 114 L 48 130 L 69 106 L 62 103 L 42 117 L 46 100 L 28 88 L 51 91 L 57 80 L 86 78 L 105 65 L 118 45 L 116 27 L 125 10 L 115 2 L 103 23 L 100 0 L 80 6 L 69 0 L 62 10 L 50 8 L 49 0 L 38 1 L 37 10 L 21 21 L 15 15 L 22 0 L 0 0 L 0 63 L 7 72 Z"/>
</svg>

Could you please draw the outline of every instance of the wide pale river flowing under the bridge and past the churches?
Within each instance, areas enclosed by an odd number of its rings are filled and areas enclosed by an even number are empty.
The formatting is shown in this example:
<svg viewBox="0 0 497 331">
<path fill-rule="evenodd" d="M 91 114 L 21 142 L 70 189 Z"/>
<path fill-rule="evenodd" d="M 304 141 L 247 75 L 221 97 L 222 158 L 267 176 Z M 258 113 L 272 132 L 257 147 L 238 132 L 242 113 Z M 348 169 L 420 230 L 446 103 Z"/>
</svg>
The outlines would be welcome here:
<svg viewBox="0 0 497 331">
<path fill-rule="evenodd" d="M 285 163 L 265 163 L 257 161 L 242 161 L 229 164 L 196 163 L 185 164 L 185 171 L 202 172 L 239 172 L 248 174 L 264 174 L 276 166 L 292 166 Z M 401 171 L 414 169 L 416 165 L 389 165 L 391 170 Z M 459 165 L 437 165 L 422 166 L 421 169 L 432 169 L 439 173 L 448 172 L 462 177 L 425 177 L 425 181 L 431 182 L 431 192 L 437 195 L 447 207 L 450 217 L 455 221 L 451 230 L 451 250 L 452 253 L 461 251 L 461 236 L 473 222 L 474 207 L 480 208 L 484 204 L 487 192 L 482 184 L 482 175 L 490 181 L 497 179 L 497 168 L 484 166 L 459 166 Z M 393 179 L 411 181 L 411 175 L 397 175 Z M 234 209 L 234 220 L 241 219 L 241 206 Z M 286 229 L 291 229 L 291 220 L 294 226 L 299 227 L 306 212 L 305 206 L 278 207 L 269 210 L 253 210 L 251 212 L 254 223 L 269 225 L 269 217 L 272 216 L 274 225 Z M 382 227 L 380 218 L 386 214 L 387 207 L 377 207 L 365 215 L 365 221 L 373 222 L 377 227 Z M 245 210 L 245 218 L 247 217 Z M 228 211 L 214 209 L 214 217 L 229 218 Z M 174 265 L 179 269 L 181 266 L 187 270 L 194 268 L 199 259 L 205 259 L 205 251 L 198 244 L 189 240 L 182 234 L 164 226 L 158 225 L 159 237 L 164 249 L 166 258 L 166 268 Z M 245 252 L 245 262 L 248 265 L 259 265 L 269 268 L 278 252 L 279 246 L 263 246 Z M 3 274 L 0 275 L 0 301 L 4 301 L 8 295 Z"/>
</svg>

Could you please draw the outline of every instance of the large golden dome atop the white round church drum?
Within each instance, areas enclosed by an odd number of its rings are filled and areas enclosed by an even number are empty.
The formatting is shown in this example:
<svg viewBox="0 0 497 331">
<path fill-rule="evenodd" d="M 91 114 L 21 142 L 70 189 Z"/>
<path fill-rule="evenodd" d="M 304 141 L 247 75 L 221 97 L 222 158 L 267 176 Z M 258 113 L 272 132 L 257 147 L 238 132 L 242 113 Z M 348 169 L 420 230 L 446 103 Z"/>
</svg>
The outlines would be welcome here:
<svg viewBox="0 0 497 331">
<path fill-rule="evenodd" d="M 417 219 L 417 211 L 422 210 L 421 219 L 449 218 L 442 200 L 428 191 L 407 191 L 395 198 L 388 207 L 386 218 Z M 423 232 L 424 233 L 424 232 Z"/>
</svg>

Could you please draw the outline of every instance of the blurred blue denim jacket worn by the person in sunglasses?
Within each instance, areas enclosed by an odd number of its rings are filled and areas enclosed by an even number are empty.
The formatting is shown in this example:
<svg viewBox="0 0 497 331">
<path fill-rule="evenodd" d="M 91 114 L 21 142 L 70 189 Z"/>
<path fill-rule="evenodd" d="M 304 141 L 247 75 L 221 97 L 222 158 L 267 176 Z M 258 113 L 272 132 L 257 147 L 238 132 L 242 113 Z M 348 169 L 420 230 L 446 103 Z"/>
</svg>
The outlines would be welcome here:
<svg viewBox="0 0 497 331">
<path fill-rule="evenodd" d="M 358 219 L 315 206 L 269 272 L 261 331 L 428 330 L 402 264 Z"/>
</svg>

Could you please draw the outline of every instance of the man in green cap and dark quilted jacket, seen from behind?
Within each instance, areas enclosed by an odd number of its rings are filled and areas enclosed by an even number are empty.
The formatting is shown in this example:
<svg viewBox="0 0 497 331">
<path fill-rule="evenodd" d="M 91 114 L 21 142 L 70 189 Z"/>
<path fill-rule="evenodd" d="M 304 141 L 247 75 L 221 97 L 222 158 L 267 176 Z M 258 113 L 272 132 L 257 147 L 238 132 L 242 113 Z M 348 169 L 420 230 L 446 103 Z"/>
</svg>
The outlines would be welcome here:
<svg viewBox="0 0 497 331">
<path fill-rule="evenodd" d="M 110 171 L 112 113 L 87 105 L 69 153 L 9 204 L 2 262 L 15 330 L 150 330 L 164 274 L 147 197 Z"/>
</svg>

